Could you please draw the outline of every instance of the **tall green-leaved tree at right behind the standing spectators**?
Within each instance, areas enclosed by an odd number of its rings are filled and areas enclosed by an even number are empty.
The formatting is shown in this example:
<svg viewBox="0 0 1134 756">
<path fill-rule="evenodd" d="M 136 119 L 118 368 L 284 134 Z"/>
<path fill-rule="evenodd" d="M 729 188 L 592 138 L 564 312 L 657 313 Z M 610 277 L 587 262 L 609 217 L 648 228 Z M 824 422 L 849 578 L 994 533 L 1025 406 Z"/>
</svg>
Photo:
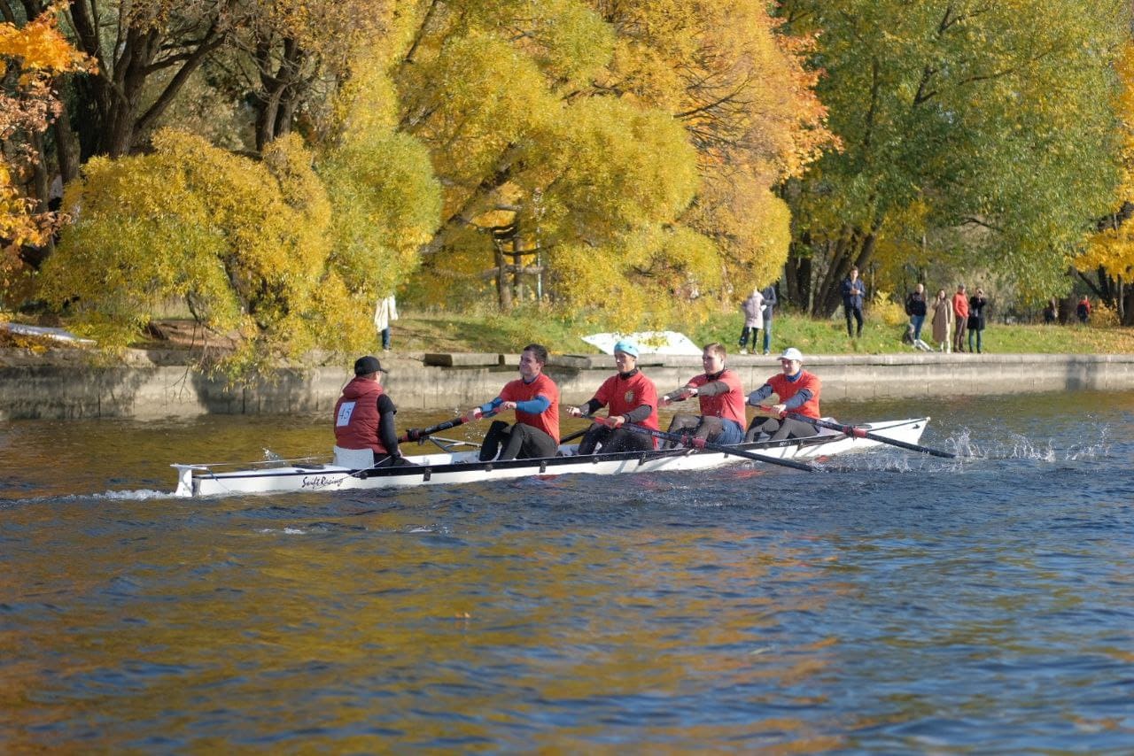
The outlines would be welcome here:
<svg viewBox="0 0 1134 756">
<path fill-rule="evenodd" d="M 786 28 L 818 35 L 819 94 L 843 143 L 784 190 L 792 297 L 832 313 L 849 267 L 898 229 L 1024 299 L 1065 287 L 1115 184 L 1126 5 L 786 0 Z"/>
</svg>

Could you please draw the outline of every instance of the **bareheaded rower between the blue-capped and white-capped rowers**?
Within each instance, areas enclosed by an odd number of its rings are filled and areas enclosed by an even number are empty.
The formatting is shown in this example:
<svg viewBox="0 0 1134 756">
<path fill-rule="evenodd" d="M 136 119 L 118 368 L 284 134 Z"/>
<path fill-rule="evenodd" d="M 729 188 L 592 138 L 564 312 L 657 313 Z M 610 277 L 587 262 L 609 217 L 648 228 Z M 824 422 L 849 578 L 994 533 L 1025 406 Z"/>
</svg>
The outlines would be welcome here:
<svg viewBox="0 0 1134 756">
<path fill-rule="evenodd" d="M 674 415 L 669 433 L 692 433 L 711 443 L 741 443 L 744 440 L 744 389 L 741 376 L 725 367 L 725 347 L 716 341 L 701 352 L 704 373 L 689 379 L 680 389 L 661 398 L 661 406 L 697 398 L 700 415 Z"/>
</svg>

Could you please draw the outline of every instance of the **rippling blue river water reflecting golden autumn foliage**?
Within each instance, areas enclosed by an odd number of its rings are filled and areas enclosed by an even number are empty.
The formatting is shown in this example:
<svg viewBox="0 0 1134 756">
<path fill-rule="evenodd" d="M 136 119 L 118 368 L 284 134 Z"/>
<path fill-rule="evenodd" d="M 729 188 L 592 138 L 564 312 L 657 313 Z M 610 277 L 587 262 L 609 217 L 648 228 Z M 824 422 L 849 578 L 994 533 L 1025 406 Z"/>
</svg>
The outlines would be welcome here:
<svg viewBox="0 0 1134 756">
<path fill-rule="evenodd" d="M 824 409 L 973 457 L 192 501 L 329 421 L 0 424 L 0 751 L 1134 751 L 1134 393 Z"/>
</svg>

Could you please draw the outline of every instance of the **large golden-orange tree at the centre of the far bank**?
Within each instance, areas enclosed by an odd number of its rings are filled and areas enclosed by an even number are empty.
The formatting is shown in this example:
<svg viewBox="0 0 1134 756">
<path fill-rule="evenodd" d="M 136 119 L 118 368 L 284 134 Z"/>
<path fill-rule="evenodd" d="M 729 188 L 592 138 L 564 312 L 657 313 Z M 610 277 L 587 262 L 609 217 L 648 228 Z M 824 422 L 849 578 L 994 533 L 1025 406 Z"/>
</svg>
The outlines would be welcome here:
<svg viewBox="0 0 1134 756">
<path fill-rule="evenodd" d="M 416 7 L 400 126 L 446 187 L 422 289 L 491 284 L 507 307 L 525 275 L 628 325 L 777 278 L 789 230 L 771 188 L 830 135 L 805 45 L 763 3 Z"/>
</svg>

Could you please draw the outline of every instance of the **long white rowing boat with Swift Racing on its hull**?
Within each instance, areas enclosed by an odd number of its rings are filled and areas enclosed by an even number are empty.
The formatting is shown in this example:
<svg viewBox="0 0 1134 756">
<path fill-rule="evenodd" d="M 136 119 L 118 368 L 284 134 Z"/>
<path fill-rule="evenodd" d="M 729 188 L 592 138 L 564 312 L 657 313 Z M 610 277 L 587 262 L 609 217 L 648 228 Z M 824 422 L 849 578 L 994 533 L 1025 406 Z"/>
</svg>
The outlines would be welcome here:
<svg viewBox="0 0 1134 756">
<path fill-rule="evenodd" d="M 916 443 L 929 423 L 928 417 L 886 421 L 862 427 L 872 436 L 848 435 L 829 428 L 807 439 L 761 441 L 738 444 L 736 449 L 759 452 L 778 459 L 818 459 L 846 452 L 873 449 L 891 439 Z M 175 495 L 185 498 L 223 496 L 249 493 L 288 493 L 299 491 L 348 491 L 390 489 L 418 485 L 457 485 L 485 483 L 530 476 L 549 475 L 619 475 L 623 473 L 662 473 L 706 470 L 745 462 L 748 458 L 728 451 L 660 449 L 619 453 L 578 455 L 576 444 L 564 444 L 555 457 L 482 462 L 477 451 L 454 451 L 462 442 L 435 441 L 439 452 L 408 457 L 414 467 L 363 468 L 336 465 L 331 461 L 273 460 L 252 464 L 172 465 L 177 469 Z M 448 442 L 448 447 L 446 447 Z M 755 462 L 759 464 L 759 462 Z"/>
</svg>

